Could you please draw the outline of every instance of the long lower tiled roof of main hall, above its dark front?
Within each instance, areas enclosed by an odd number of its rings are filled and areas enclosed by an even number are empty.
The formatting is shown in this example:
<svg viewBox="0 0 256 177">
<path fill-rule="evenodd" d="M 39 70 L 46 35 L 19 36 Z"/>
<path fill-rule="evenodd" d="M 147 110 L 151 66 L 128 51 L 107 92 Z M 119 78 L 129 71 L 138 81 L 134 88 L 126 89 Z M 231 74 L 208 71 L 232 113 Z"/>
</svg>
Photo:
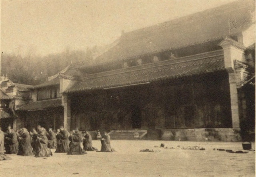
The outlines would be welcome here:
<svg viewBox="0 0 256 177">
<path fill-rule="evenodd" d="M 83 82 L 75 85 L 65 92 L 86 91 L 92 89 L 103 89 L 130 84 L 154 82 L 157 80 L 179 78 L 203 73 L 224 70 L 223 50 L 210 52 L 210 55 L 200 54 L 190 57 L 176 58 L 148 65 L 102 72 L 88 75 Z M 203 57 L 203 58 L 202 58 Z"/>
</svg>

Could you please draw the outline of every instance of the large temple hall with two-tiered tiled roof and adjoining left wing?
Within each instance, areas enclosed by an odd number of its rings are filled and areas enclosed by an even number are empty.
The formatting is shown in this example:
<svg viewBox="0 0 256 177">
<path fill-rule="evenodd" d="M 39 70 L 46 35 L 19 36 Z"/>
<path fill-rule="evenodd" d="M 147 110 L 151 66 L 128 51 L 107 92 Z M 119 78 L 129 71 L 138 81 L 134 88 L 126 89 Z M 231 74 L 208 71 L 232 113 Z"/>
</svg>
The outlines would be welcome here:
<svg viewBox="0 0 256 177">
<path fill-rule="evenodd" d="M 146 139 L 240 141 L 255 130 L 254 19 L 253 1 L 238 1 L 124 33 L 48 81 L 55 84 L 34 87 L 37 101 L 18 111 L 27 126 L 45 119 L 68 130 L 143 129 Z M 42 102 L 58 106 L 32 111 L 40 89 L 55 87 L 59 95 L 46 91 Z"/>
</svg>

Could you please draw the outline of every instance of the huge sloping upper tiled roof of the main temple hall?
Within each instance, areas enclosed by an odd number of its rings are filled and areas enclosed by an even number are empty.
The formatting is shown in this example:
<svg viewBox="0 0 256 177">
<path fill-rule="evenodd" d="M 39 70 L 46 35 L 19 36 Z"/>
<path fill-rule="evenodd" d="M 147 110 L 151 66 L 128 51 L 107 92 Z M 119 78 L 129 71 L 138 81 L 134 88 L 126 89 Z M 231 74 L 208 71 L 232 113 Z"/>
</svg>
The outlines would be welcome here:
<svg viewBox="0 0 256 177">
<path fill-rule="evenodd" d="M 116 46 L 85 64 L 126 60 L 237 35 L 252 25 L 253 0 L 239 0 L 123 34 Z"/>
</svg>

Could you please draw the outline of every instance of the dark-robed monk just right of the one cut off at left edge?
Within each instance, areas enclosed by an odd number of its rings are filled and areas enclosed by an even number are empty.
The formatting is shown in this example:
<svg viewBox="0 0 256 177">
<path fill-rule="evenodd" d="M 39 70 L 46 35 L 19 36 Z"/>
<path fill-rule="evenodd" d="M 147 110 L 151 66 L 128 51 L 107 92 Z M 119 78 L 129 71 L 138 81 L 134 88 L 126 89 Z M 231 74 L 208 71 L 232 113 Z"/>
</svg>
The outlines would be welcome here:
<svg viewBox="0 0 256 177">
<path fill-rule="evenodd" d="M 6 139 L 6 154 L 17 154 L 18 153 L 18 137 L 16 132 L 8 127 Z"/>
</svg>

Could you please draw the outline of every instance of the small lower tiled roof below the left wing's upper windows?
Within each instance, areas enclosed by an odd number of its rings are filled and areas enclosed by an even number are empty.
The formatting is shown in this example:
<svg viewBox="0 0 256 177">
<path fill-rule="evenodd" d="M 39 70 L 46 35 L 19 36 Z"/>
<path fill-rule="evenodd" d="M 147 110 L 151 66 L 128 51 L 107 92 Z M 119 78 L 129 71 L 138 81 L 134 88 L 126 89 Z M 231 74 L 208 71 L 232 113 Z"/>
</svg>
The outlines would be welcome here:
<svg viewBox="0 0 256 177">
<path fill-rule="evenodd" d="M 60 107 L 61 105 L 61 98 L 57 99 L 48 99 L 42 101 L 35 101 L 24 105 L 17 109 L 17 111 L 29 111 L 29 110 L 40 110 L 40 109 L 47 109 L 52 107 Z"/>
</svg>

